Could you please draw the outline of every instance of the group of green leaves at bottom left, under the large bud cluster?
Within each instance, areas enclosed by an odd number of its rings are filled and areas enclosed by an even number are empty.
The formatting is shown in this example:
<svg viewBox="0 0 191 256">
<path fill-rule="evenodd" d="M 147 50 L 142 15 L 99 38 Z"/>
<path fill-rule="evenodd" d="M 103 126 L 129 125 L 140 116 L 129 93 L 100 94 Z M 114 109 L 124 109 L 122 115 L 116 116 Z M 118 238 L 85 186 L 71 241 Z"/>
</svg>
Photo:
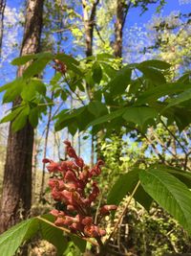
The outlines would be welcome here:
<svg viewBox="0 0 191 256">
<path fill-rule="evenodd" d="M 53 223 L 53 216 L 45 215 L 43 219 L 32 218 L 22 221 L 11 227 L 10 230 L 0 236 L 0 254 L 2 256 L 12 256 L 21 244 L 31 240 L 33 236 L 40 234 L 41 238 L 53 244 L 57 249 L 57 255 L 63 255 L 68 247 L 68 241 L 62 230 Z M 46 222 L 46 220 L 50 221 Z M 86 241 L 70 235 L 74 244 L 83 252 L 86 247 Z"/>
</svg>

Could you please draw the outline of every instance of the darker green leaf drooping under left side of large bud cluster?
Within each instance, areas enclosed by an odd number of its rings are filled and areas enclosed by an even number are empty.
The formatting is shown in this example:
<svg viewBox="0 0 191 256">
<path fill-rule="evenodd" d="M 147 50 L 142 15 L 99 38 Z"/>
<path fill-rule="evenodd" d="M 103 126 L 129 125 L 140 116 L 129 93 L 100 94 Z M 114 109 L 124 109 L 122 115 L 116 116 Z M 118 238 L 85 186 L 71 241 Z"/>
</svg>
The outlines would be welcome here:
<svg viewBox="0 0 191 256">
<path fill-rule="evenodd" d="M 47 214 L 42 216 L 42 219 L 53 222 L 54 218 L 52 215 Z M 56 247 L 57 256 L 63 255 L 63 252 L 66 250 L 68 246 L 68 241 L 64 236 L 63 231 L 57 228 L 56 226 L 53 226 L 46 221 L 43 221 L 42 219 L 38 219 L 42 239 L 48 241 L 49 243 L 53 244 Z"/>
</svg>

